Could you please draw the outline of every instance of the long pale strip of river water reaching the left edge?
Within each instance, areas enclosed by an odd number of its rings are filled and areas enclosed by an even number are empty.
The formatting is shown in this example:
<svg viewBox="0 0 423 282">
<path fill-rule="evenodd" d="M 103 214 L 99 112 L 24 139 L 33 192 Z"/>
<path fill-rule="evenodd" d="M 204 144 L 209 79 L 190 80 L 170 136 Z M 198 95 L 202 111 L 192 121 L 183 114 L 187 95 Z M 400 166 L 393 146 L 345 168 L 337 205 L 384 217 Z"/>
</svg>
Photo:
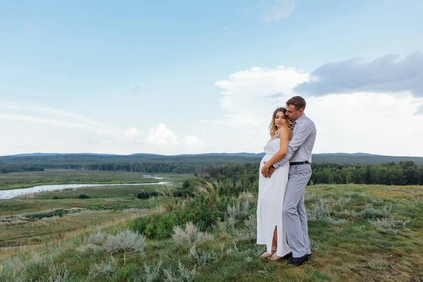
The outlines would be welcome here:
<svg viewBox="0 0 423 282">
<path fill-rule="evenodd" d="M 23 195 L 30 195 L 39 192 L 56 191 L 63 189 L 78 189 L 86 187 L 97 186 L 122 186 L 122 185 L 168 185 L 170 182 L 159 183 L 122 183 L 122 184 L 58 184 L 58 185 L 39 185 L 31 188 L 13 189 L 13 190 L 0 190 L 0 200 L 11 199 Z"/>
</svg>

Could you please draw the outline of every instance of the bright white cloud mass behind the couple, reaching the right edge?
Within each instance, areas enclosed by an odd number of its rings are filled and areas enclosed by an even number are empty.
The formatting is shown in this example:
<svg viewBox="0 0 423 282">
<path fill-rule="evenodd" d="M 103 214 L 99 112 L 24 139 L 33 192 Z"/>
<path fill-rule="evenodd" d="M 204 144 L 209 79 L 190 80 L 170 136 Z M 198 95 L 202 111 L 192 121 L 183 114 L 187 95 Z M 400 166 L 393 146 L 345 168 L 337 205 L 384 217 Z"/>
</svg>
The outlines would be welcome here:
<svg viewBox="0 0 423 282">
<path fill-rule="evenodd" d="M 218 123 L 237 128 L 221 130 L 214 147 L 223 152 L 262 152 L 274 109 L 284 106 L 295 95 L 293 87 L 307 80 L 309 73 L 278 67 L 251 68 L 216 82 L 226 111 L 226 118 Z M 316 153 L 423 156 L 423 115 L 415 116 L 421 109 L 410 92 L 354 92 L 305 99 L 306 113 L 317 125 Z"/>
</svg>

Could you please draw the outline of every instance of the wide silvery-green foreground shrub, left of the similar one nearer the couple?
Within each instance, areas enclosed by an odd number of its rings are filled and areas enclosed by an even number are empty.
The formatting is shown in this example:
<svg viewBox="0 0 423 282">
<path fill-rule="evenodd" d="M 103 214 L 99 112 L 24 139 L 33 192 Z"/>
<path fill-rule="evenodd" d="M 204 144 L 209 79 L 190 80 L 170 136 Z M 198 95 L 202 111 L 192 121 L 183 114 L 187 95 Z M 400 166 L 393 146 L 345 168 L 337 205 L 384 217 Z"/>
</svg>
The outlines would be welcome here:
<svg viewBox="0 0 423 282">
<path fill-rule="evenodd" d="M 146 245 L 144 235 L 127 229 L 116 235 L 107 235 L 103 249 L 111 253 L 127 251 L 142 253 Z"/>
</svg>

